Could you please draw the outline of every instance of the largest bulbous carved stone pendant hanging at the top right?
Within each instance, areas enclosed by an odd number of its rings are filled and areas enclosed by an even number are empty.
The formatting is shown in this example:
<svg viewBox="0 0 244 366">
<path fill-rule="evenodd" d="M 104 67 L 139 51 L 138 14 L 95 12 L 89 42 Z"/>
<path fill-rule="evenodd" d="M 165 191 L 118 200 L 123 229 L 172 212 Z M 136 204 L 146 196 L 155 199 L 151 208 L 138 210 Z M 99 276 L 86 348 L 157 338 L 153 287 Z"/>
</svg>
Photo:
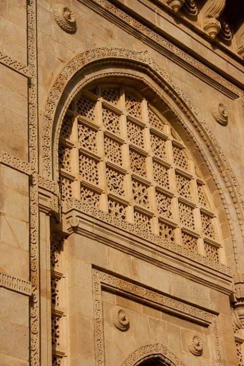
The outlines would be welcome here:
<svg viewBox="0 0 244 366">
<path fill-rule="evenodd" d="M 225 0 L 208 0 L 206 4 L 207 8 L 204 14 L 203 29 L 214 40 L 221 30 L 221 24 L 218 18 L 224 10 Z"/>
</svg>

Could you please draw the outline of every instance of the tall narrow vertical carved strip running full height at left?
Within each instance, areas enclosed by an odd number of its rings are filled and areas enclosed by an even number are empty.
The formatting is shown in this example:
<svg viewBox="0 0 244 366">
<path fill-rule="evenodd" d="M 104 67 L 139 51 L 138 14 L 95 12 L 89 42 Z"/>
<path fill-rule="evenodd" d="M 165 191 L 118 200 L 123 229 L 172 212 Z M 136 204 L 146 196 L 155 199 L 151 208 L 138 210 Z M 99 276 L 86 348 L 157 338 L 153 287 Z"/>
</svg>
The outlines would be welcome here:
<svg viewBox="0 0 244 366">
<path fill-rule="evenodd" d="M 30 71 L 28 87 L 29 162 L 32 177 L 30 195 L 30 365 L 40 365 L 39 339 L 39 244 L 38 244 L 38 111 L 37 111 L 37 30 L 36 0 L 27 2 L 27 59 Z"/>
</svg>

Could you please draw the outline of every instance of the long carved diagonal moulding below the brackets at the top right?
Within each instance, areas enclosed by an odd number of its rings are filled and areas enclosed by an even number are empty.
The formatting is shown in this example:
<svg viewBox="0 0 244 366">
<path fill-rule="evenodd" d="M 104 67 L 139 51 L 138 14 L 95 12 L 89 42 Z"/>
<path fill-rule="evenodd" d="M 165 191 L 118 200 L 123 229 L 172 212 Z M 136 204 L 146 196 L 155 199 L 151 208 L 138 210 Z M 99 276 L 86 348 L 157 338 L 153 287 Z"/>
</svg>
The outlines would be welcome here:
<svg viewBox="0 0 244 366">
<path fill-rule="evenodd" d="M 134 32 L 139 32 L 143 37 L 140 37 L 141 41 L 145 38 L 152 41 L 157 47 L 160 46 L 161 53 L 167 58 L 177 62 L 180 66 L 190 69 L 190 72 L 197 75 L 201 80 L 210 84 L 212 87 L 217 89 L 219 92 L 224 93 L 231 99 L 237 99 L 243 95 L 240 88 L 232 84 L 231 82 L 224 79 L 222 76 L 205 66 L 202 62 L 197 61 L 189 54 L 175 46 L 173 43 L 167 41 L 158 33 L 154 32 L 150 28 L 144 26 L 139 21 L 135 20 L 121 9 L 111 4 L 108 0 L 79 0 L 80 2 L 89 5 L 94 11 L 97 11 L 96 7 L 100 7 L 103 10 L 109 12 L 114 17 L 123 21 L 130 29 L 134 29 Z M 104 16 L 104 12 L 100 12 Z M 136 35 L 134 34 L 136 37 Z M 145 42 L 145 41 L 144 41 Z"/>
</svg>

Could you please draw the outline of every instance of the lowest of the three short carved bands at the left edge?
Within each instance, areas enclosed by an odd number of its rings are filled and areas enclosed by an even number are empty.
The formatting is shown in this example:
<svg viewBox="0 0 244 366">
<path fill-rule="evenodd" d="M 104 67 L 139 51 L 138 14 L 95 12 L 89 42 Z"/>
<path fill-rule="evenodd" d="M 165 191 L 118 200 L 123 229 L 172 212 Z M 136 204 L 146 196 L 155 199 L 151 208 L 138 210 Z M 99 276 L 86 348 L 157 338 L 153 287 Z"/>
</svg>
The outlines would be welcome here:
<svg viewBox="0 0 244 366">
<path fill-rule="evenodd" d="M 4 272 L 0 272 L 0 287 L 31 296 L 31 283 L 29 281 L 21 280 Z"/>
</svg>

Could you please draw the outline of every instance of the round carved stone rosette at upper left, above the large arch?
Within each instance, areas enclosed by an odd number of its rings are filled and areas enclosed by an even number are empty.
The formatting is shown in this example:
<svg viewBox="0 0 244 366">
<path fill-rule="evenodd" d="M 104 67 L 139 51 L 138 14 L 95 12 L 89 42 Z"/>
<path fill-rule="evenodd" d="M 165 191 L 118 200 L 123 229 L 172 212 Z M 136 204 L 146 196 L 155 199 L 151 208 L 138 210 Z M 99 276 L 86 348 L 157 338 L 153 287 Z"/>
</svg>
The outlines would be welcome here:
<svg viewBox="0 0 244 366">
<path fill-rule="evenodd" d="M 75 33 L 77 30 L 75 14 L 70 8 L 56 5 L 53 9 L 54 19 L 62 30 L 67 33 Z"/>
</svg>

